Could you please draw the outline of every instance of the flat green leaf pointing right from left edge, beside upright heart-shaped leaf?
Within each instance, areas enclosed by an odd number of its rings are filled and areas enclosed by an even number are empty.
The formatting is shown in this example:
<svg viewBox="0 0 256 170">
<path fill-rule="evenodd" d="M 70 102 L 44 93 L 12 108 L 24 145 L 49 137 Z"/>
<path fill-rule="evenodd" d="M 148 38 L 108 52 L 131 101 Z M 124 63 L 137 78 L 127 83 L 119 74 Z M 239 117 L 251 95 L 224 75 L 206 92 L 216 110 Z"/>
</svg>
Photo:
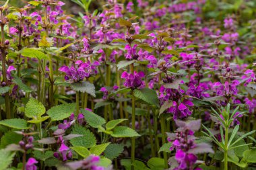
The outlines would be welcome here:
<svg viewBox="0 0 256 170">
<path fill-rule="evenodd" d="M 15 129 L 28 129 L 27 122 L 24 119 L 7 119 L 0 121 L 0 125 Z"/>
</svg>

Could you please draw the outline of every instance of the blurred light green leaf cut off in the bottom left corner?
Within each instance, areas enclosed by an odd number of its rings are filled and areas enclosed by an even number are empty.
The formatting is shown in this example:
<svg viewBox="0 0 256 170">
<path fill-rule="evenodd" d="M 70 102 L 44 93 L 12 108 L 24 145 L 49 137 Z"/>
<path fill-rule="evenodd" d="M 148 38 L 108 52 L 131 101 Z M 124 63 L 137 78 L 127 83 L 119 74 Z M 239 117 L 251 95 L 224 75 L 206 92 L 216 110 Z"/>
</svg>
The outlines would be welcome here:
<svg viewBox="0 0 256 170">
<path fill-rule="evenodd" d="M 15 153 L 11 153 L 11 151 L 6 151 L 5 149 L 0 150 L 0 170 L 7 169 L 11 164 L 14 155 Z"/>
</svg>

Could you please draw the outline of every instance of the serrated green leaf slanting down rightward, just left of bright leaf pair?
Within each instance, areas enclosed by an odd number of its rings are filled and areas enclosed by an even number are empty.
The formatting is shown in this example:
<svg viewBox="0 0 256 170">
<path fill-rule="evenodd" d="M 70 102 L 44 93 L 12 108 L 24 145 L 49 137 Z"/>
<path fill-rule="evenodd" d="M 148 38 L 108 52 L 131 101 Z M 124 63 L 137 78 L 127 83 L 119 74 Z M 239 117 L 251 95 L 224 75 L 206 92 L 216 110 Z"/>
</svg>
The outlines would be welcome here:
<svg viewBox="0 0 256 170">
<path fill-rule="evenodd" d="M 106 120 L 104 120 L 104 118 L 88 110 L 82 110 L 82 114 L 84 114 L 86 122 L 88 122 L 88 124 L 93 128 L 98 128 L 99 126 L 102 126 L 102 124 L 106 123 Z"/>
</svg>

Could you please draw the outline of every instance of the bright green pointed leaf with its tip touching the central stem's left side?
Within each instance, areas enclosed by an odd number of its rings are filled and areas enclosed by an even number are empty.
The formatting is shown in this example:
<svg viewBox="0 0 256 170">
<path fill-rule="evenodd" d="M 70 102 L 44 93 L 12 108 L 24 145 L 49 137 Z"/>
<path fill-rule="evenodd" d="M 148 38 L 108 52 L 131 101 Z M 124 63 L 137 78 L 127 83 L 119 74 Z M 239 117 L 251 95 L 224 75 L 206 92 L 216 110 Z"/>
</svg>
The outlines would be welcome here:
<svg viewBox="0 0 256 170">
<path fill-rule="evenodd" d="M 135 130 L 128 128 L 126 126 L 117 126 L 114 129 L 114 132 L 113 134 L 111 134 L 111 136 L 115 138 L 131 138 L 140 135 Z"/>
</svg>

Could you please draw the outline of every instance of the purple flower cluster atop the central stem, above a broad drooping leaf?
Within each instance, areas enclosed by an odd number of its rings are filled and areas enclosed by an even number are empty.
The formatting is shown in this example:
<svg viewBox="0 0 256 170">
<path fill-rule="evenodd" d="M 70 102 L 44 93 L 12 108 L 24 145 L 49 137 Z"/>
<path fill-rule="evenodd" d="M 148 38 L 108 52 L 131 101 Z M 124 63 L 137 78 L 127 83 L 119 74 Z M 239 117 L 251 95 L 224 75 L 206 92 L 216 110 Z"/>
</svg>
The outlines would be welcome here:
<svg viewBox="0 0 256 170">
<path fill-rule="evenodd" d="M 141 80 L 142 77 L 145 77 L 145 74 L 141 71 L 137 73 L 134 71 L 134 73 L 127 73 L 126 71 L 122 73 L 121 78 L 125 79 L 125 87 L 129 87 L 131 89 L 136 89 L 139 87 L 143 87 L 144 82 Z"/>
</svg>

